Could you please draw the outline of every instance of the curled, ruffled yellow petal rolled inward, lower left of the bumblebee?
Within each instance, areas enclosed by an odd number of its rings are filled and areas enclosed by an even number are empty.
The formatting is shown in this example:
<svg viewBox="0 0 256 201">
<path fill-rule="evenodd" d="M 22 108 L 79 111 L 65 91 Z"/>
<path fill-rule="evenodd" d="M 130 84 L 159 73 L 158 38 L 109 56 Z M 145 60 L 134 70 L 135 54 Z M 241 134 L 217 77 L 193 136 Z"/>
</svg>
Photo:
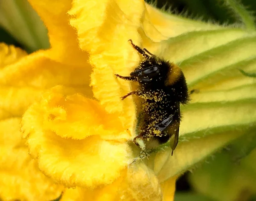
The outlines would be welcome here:
<svg viewBox="0 0 256 201">
<path fill-rule="evenodd" d="M 39 168 L 54 181 L 67 187 L 95 188 L 116 180 L 122 169 L 127 166 L 128 160 L 131 160 L 131 148 L 125 143 L 127 140 L 122 143 L 114 139 L 103 140 L 105 132 L 108 131 L 104 130 L 104 126 L 101 127 L 103 120 L 97 119 L 100 115 L 105 118 L 105 114 L 100 113 L 98 103 L 81 95 L 67 96 L 66 100 L 54 93 L 46 93 L 43 97 L 51 99 L 34 103 L 25 112 L 22 127 L 29 145 L 29 153 L 33 158 L 37 158 Z M 56 107 L 48 111 L 48 104 Z M 57 106 L 58 104 L 60 105 Z M 76 114 L 84 119 L 84 124 Z M 56 125 L 49 124 L 53 126 L 51 128 L 45 123 L 46 120 L 56 121 Z M 108 118 L 104 121 L 104 125 L 108 127 Z M 110 126 L 108 129 L 109 132 L 118 132 L 116 128 L 118 129 L 116 126 Z M 65 132 L 65 129 L 70 133 Z M 61 138 L 71 135 L 82 140 Z"/>
</svg>

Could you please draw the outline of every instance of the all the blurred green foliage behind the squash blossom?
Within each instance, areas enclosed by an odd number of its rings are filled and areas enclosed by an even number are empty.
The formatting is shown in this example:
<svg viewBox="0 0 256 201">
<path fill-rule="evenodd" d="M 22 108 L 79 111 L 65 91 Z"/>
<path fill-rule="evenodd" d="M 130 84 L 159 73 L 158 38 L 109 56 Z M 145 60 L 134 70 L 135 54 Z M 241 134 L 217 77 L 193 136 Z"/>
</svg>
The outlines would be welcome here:
<svg viewBox="0 0 256 201">
<path fill-rule="evenodd" d="M 256 0 L 239 2 L 256 17 Z M 194 19 L 219 24 L 239 23 L 224 0 L 157 0 L 156 5 Z M 0 0 L 0 42 L 14 44 L 29 53 L 49 47 L 47 29 L 27 0 Z M 255 132 L 248 135 L 251 135 L 250 141 L 239 139 L 238 143 L 214 155 L 209 163 L 193 169 L 193 174 L 183 174 L 176 184 L 175 201 L 256 201 L 251 188 L 248 189 L 248 186 L 256 184 L 256 177 L 248 174 L 256 173 L 256 168 L 248 163 L 256 161 Z M 241 143 L 249 144 L 249 149 L 241 151 Z M 242 160 L 245 157 L 246 160 Z M 236 193 L 238 196 L 232 198 L 231 194 Z"/>
</svg>

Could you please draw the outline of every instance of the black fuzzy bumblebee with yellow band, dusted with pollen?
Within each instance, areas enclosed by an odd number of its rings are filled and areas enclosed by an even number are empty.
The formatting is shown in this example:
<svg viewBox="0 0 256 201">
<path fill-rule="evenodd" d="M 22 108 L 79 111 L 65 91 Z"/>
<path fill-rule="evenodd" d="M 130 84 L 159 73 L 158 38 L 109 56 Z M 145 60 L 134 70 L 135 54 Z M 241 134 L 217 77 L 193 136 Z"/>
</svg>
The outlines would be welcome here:
<svg viewBox="0 0 256 201">
<path fill-rule="evenodd" d="M 143 59 L 130 76 L 116 74 L 116 77 L 138 83 L 135 91 L 122 97 L 122 100 L 130 95 L 140 98 L 139 135 L 134 143 L 139 146 L 142 140 L 145 149 L 153 149 L 170 140 L 173 154 L 179 139 L 180 104 L 189 101 L 186 79 L 177 65 L 129 41 Z"/>
</svg>

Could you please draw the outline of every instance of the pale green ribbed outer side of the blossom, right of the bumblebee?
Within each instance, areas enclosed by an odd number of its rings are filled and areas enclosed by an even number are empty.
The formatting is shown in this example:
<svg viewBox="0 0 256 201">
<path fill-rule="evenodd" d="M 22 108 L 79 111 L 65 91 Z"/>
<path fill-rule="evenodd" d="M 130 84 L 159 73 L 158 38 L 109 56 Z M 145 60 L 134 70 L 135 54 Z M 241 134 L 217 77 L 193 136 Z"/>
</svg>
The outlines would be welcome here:
<svg viewBox="0 0 256 201">
<path fill-rule="evenodd" d="M 147 10 L 151 8 L 147 6 Z M 162 22 L 159 19 L 163 16 L 166 20 Z M 153 21 L 154 17 L 151 18 Z M 256 69 L 255 33 L 221 26 L 208 29 L 203 23 L 200 28 L 195 21 L 186 30 L 181 17 L 177 29 L 178 18 L 159 11 L 152 27 L 155 25 L 160 34 L 167 34 L 168 30 L 161 26 L 173 20 L 170 37 L 163 40 L 163 36 L 150 32 L 149 28 L 144 36 L 150 39 L 143 37 L 150 52 L 179 63 L 189 87 L 199 89 L 199 93 L 191 95 L 192 101 L 181 107 L 180 143 L 174 155 L 170 155 L 168 148 L 155 158 L 152 156 L 154 163 L 149 161 L 160 182 L 192 168 L 233 139 L 255 129 L 256 112 L 252 110 L 256 106 L 255 79 L 238 70 Z"/>
</svg>

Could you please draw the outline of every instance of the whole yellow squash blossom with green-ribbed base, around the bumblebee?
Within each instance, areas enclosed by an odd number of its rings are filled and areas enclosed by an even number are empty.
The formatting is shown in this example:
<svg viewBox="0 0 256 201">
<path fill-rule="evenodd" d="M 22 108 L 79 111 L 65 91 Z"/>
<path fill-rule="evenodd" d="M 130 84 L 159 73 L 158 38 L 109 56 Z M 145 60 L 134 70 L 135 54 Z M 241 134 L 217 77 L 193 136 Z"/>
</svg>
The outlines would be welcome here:
<svg viewBox="0 0 256 201">
<path fill-rule="evenodd" d="M 63 191 L 61 201 L 172 201 L 178 175 L 255 129 L 256 80 L 239 71 L 256 71 L 254 29 L 186 19 L 143 0 L 29 3 L 51 48 L 0 52 L 1 199 L 45 201 Z M 173 156 L 166 144 L 131 163 L 140 152 L 136 106 L 120 99 L 131 85 L 114 76 L 141 60 L 129 39 L 177 63 L 197 91 L 181 107 Z"/>
</svg>

